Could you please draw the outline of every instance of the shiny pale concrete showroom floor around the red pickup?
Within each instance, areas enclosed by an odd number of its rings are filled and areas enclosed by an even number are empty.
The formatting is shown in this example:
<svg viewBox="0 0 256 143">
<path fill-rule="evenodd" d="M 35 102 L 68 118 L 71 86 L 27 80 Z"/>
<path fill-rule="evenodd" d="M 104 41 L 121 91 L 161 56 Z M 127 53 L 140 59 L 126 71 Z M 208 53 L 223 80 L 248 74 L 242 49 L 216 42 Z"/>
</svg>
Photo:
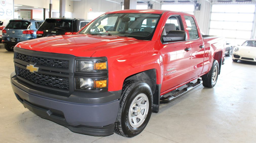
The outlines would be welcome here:
<svg viewBox="0 0 256 143">
<path fill-rule="evenodd" d="M 256 142 L 256 64 L 226 57 L 217 85 L 197 89 L 153 113 L 134 138 L 73 133 L 24 108 L 10 85 L 13 52 L 0 44 L 0 142 Z"/>
</svg>

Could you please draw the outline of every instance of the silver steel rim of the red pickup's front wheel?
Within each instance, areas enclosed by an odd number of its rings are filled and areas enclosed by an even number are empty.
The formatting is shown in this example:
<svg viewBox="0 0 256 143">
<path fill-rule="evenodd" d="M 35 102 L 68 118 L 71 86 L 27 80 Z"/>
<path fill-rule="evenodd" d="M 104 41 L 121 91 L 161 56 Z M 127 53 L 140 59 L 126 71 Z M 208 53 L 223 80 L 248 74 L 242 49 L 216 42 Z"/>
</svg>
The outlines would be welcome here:
<svg viewBox="0 0 256 143">
<path fill-rule="evenodd" d="M 138 94 L 129 108 L 129 123 L 133 128 L 140 127 L 145 121 L 148 112 L 148 98 L 144 93 Z"/>
</svg>

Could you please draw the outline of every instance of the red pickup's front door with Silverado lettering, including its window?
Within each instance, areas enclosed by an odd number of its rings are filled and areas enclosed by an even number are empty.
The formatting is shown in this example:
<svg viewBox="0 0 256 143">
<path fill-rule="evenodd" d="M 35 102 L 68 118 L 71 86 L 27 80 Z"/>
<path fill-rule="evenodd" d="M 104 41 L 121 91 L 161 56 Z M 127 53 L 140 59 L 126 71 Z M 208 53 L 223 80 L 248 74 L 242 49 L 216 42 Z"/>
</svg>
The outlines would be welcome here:
<svg viewBox="0 0 256 143">
<path fill-rule="evenodd" d="M 170 16 L 166 19 L 162 35 L 171 30 L 184 31 L 182 25 L 179 15 Z M 162 42 L 160 45 L 163 56 L 163 83 L 161 88 L 161 93 L 163 93 L 188 81 L 191 50 L 185 49 L 191 49 L 191 47 L 189 41 Z"/>
</svg>

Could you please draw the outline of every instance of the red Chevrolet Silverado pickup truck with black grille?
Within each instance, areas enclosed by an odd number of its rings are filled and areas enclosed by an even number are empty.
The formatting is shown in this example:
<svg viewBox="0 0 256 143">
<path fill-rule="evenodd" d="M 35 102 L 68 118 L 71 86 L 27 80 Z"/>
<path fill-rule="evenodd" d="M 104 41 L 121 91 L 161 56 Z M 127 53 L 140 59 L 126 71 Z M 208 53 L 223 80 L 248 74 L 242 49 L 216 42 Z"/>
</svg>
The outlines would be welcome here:
<svg viewBox="0 0 256 143">
<path fill-rule="evenodd" d="M 160 104 L 200 84 L 214 87 L 224 44 L 201 35 L 188 13 L 106 12 L 77 34 L 18 43 L 11 83 L 41 118 L 76 133 L 133 137 Z"/>
</svg>

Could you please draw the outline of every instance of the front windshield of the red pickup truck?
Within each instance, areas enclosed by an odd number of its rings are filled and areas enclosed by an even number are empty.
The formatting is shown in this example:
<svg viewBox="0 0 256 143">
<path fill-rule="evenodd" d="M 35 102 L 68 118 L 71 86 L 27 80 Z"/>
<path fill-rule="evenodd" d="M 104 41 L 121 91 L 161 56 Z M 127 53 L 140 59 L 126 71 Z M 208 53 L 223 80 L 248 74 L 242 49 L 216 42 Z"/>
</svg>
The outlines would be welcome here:
<svg viewBox="0 0 256 143">
<path fill-rule="evenodd" d="M 160 16 L 152 13 L 104 14 L 86 26 L 79 34 L 118 35 L 151 40 Z"/>
</svg>

